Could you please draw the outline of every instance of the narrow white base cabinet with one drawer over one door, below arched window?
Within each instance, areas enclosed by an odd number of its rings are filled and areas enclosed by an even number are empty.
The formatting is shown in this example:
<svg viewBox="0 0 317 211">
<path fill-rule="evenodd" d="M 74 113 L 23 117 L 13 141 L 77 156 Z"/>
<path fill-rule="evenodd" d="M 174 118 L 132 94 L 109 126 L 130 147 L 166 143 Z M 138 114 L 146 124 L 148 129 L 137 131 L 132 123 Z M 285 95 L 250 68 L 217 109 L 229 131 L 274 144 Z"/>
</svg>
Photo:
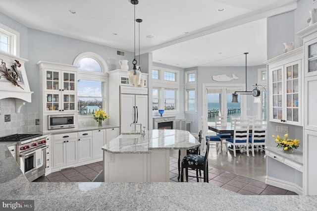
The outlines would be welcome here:
<svg viewBox="0 0 317 211">
<path fill-rule="evenodd" d="M 78 162 L 91 160 L 93 158 L 93 136 L 92 131 L 78 132 Z"/>
</svg>

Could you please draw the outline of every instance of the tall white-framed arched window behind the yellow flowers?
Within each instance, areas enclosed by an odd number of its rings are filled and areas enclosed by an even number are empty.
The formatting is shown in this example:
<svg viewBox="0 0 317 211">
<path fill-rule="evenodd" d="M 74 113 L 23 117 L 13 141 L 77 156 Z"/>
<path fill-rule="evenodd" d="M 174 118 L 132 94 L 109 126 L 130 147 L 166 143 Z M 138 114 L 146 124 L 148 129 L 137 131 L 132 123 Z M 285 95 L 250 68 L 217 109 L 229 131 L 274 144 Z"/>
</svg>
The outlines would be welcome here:
<svg viewBox="0 0 317 211">
<path fill-rule="evenodd" d="M 106 110 L 108 69 L 105 60 L 96 53 L 85 52 L 79 54 L 73 64 L 79 66 L 77 72 L 78 115 L 91 117 L 99 108 Z"/>
</svg>

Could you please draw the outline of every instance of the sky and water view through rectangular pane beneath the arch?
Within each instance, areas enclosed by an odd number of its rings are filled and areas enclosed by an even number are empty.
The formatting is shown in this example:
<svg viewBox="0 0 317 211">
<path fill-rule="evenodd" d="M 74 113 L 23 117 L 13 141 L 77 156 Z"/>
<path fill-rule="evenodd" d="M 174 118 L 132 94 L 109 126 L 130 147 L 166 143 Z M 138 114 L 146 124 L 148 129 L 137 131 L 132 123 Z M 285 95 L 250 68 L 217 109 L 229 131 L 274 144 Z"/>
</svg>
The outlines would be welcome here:
<svg viewBox="0 0 317 211">
<path fill-rule="evenodd" d="M 103 93 L 105 82 L 79 80 L 78 81 L 78 114 L 92 114 L 103 108 Z"/>
</svg>

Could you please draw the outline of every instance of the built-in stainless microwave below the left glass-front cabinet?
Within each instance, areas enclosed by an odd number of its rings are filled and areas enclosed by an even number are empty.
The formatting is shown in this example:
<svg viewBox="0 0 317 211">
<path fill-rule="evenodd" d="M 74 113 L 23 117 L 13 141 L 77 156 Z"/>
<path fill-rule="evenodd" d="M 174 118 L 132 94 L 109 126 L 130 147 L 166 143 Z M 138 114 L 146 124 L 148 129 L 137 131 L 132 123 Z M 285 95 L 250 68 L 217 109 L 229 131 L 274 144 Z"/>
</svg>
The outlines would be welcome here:
<svg viewBox="0 0 317 211">
<path fill-rule="evenodd" d="M 48 115 L 48 129 L 66 129 L 75 127 L 74 114 Z"/>
</svg>

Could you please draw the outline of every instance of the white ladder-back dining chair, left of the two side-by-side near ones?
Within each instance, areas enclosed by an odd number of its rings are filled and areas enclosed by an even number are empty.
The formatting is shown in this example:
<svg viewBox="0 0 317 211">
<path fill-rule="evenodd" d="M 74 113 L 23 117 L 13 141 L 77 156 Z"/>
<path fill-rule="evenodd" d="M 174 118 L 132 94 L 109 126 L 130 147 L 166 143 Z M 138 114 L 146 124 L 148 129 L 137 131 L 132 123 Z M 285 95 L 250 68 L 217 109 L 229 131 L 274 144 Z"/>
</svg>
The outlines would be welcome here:
<svg viewBox="0 0 317 211">
<path fill-rule="evenodd" d="M 236 157 L 237 146 L 239 146 L 240 152 L 245 149 L 247 156 L 249 157 L 249 120 L 241 119 L 239 122 L 234 120 L 233 138 L 226 139 L 226 143 L 232 146 L 233 156 Z"/>
</svg>

